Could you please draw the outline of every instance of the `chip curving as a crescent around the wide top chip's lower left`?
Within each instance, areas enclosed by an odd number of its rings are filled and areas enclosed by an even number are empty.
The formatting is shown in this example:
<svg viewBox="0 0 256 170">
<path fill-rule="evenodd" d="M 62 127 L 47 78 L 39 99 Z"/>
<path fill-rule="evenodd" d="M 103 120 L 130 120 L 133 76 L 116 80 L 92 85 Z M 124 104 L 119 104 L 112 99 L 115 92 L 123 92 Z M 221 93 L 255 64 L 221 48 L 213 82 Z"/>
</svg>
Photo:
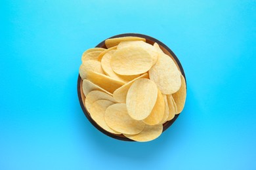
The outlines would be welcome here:
<svg viewBox="0 0 256 170">
<path fill-rule="evenodd" d="M 112 58 L 113 53 L 116 52 L 116 50 L 111 50 L 109 52 L 107 52 L 106 54 L 104 54 L 104 56 L 101 59 L 101 66 L 102 69 L 104 70 L 104 72 L 106 73 L 106 75 L 122 81 L 122 82 L 129 82 L 135 78 L 137 78 L 140 75 L 131 75 L 131 76 L 123 76 L 123 75 L 117 75 L 111 68 L 111 63 L 110 60 Z"/>
</svg>

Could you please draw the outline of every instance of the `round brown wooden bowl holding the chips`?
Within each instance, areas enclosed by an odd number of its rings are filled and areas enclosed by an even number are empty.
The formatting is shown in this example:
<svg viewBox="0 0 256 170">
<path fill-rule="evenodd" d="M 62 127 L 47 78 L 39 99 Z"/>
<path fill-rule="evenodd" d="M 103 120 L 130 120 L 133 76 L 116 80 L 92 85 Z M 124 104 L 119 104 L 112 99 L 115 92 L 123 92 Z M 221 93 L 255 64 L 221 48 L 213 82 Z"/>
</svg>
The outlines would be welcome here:
<svg viewBox="0 0 256 170">
<path fill-rule="evenodd" d="M 142 34 L 138 34 L 138 33 L 124 33 L 124 34 L 115 35 L 110 38 L 127 37 L 127 36 L 142 37 L 142 38 L 146 39 L 147 43 L 152 44 L 152 45 L 154 44 L 154 42 L 157 42 L 159 44 L 161 50 L 163 50 L 163 52 L 165 54 L 170 56 L 170 58 L 172 58 L 173 61 L 175 61 L 177 67 L 179 68 L 179 70 L 181 71 L 182 75 L 184 76 L 184 78 L 186 80 L 186 77 L 185 77 L 185 74 L 184 74 L 184 71 L 182 69 L 179 59 L 177 58 L 177 56 L 175 56 L 175 54 L 173 53 L 173 51 L 170 48 L 168 48 L 165 44 L 163 44 L 163 42 L 158 41 L 157 39 L 154 39 L 152 37 L 149 37 L 148 35 L 142 35 Z M 105 40 L 100 42 L 100 44 L 98 44 L 96 47 L 106 48 Z M 98 126 L 98 124 L 96 124 L 96 122 L 91 118 L 90 113 L 88 112 L 88 110 L 85 107 L 85 95 L 83 94 L 82 82 L 83 82 L 83 80 L 81 80 L 80 75 L 78 75 L 77 93 L 78 93 L 79 102 L 80 102 L 81 108 L 83 109 L 83 113 L 85 114 L 87 119 L 91 122 L 91 124 L 93 124 L 93 126 L 95 126 L 99 131 L 101 131 L 105 135 L 113 137 L 114 139 L 118 139 L 121 141 L 133 141 L 131 139 L 128 139 L 124 135 L 116 135 L 116 134 L 110 133 L 108 131 L 105 131 L 104 129 L 102 129 L 102 127 L 100 127 L 100 126 Z M 175 122 L 175 120 L 178 118 L 178 116 L 179 116 L 179 114 L 176 114 L 172 120 L 165 122 L 165 124 L 163 124 L 163 131 L 165 131 L 168 127 L 170 127 L 173 124 L 173 122 Z"/>
</svg>

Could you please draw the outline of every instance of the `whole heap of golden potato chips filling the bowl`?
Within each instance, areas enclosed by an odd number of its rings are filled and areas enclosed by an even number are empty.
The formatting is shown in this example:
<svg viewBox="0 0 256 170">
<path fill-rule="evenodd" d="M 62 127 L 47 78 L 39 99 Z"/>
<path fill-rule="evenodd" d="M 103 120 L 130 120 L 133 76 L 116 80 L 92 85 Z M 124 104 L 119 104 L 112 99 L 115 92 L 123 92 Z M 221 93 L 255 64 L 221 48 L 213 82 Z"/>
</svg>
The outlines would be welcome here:
<svg viewBox="0 0 256 170">
<path fill-rule="evenodd" d="M 90 48 L 82 56 L 85 107 L 110 133 L 140 142 L 156 139 L 184 107 L 184 76 L 156 42 L 120 37 L 105 44 L 107 49 Z"/>
</svg>

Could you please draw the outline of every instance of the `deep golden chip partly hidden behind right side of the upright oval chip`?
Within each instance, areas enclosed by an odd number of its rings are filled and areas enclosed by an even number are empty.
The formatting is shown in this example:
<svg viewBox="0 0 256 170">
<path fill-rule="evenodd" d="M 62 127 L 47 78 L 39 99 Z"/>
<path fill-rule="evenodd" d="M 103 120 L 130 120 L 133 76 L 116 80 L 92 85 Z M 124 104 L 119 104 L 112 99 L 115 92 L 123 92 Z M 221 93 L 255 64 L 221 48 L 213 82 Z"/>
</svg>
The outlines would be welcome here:
<svg viewBox="0 0 256 170">
<path fill-rule="evenodd" d="M 165 101 L 163 100 L 163 95 L 160 90 L 158 90 L 158 98 L 156 99 L 156 104 L 154 105 L 150 115 L 146 117 L 143 122 L 149 125 L 156 125 L 163 120 L 165 115 Z"/>
</svg>

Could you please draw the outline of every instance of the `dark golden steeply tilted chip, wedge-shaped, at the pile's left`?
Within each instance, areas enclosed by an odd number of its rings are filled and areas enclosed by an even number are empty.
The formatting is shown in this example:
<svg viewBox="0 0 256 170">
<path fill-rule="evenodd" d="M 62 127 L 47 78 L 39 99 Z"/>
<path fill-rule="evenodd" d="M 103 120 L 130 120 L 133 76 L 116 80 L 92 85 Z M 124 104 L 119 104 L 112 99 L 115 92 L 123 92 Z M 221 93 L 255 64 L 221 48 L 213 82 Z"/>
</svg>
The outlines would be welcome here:
<svg viewBox="0 0 256 170">
<path fill-rule="evenodd" d="M 125 84 L 124 82 L 115 80 L 110 76 L 102 75 L 94 71 L 87 71 L 87 79 L 110 93 L 113 93 L 117 88 Z"/>
</svg>

